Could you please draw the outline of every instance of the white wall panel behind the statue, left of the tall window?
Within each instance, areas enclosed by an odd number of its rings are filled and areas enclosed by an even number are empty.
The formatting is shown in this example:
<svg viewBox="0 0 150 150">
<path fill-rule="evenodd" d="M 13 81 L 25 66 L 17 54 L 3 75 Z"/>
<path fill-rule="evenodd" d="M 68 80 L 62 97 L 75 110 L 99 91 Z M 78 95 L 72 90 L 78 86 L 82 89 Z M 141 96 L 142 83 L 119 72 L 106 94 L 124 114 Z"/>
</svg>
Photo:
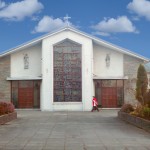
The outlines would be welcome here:
<svg viewBox="0 0 150 150">
<path fill-rule="evenodd" d="M 24 69 L 24 54 L 29 56 L 29 69 Z M 41 76 L 41 45 L 11 54 L 11 77 Z"/>
</svg>

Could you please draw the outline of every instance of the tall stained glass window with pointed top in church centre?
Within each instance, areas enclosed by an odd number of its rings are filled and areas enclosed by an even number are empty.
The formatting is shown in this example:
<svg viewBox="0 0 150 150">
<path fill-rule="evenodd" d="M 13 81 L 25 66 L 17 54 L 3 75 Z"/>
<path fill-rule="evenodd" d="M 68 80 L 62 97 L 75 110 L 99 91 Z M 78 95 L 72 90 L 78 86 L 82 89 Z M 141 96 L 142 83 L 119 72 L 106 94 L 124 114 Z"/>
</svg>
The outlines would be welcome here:
<svg viewBox="0 0 150 150">
<path fill-rule="evenodd" d="M 81 45 L 66 39 L 54 46 L 54 102 L 80 102 L 81 87 Z"/>
</svg>

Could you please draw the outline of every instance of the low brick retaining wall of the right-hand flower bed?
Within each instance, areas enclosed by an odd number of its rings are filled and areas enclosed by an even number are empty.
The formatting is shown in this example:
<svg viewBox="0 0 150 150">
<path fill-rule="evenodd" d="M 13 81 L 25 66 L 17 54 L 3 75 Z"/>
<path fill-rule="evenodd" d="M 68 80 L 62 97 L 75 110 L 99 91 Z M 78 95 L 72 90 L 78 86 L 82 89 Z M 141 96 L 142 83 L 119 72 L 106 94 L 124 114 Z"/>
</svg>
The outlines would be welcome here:
<svg viewBox="0 0 150 150">
<path fill-rule="evenodd" d="M 136 117 L 136 116 L 130 115 L 129 113 L 122 112 L 122 111 L 118 112 L 118 117 L 130 124 L 133 124 L 139 128 L 142 128 L 142 129 L 150 132 L 150 121 L 149 120 L 146 120 L 146 119 L 143 119 L 140 117 Z"/>
</svg>

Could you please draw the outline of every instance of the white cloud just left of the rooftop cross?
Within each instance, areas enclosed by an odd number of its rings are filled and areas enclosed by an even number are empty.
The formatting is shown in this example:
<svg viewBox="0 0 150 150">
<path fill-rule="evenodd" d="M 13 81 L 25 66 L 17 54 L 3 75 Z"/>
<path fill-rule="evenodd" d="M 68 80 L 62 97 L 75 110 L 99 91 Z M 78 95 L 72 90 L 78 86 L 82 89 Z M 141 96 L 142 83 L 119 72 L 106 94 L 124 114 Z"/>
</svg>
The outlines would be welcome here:
<svg viewBox="0 0 150 150">
<path fill-rule="evenodd" d="M 53 19 L 49 16 L 44 16 L 38 23 L 38 25 L 34 28 L 32 33 L 37 32 L 50 32 L 52 30 L 56 30 L 58 28 L 64 27 L 66 22 L 60 18 Z"/>
</svg>

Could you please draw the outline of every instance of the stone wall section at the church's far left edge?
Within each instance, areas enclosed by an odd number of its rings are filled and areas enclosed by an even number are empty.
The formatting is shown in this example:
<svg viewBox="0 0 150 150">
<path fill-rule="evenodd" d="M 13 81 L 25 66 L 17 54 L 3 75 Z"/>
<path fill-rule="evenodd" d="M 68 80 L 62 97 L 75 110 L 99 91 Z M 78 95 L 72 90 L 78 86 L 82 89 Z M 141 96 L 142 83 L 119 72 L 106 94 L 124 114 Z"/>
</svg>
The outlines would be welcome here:
<svg viewBox="0 0 150 150">
<path fill-rule="evenodd" d="M 10 81 L 6 78 L 10 76 L 10 56 L 0 58 L 0 101 L 10 101 L 11 89 Z"/>
</svg>

